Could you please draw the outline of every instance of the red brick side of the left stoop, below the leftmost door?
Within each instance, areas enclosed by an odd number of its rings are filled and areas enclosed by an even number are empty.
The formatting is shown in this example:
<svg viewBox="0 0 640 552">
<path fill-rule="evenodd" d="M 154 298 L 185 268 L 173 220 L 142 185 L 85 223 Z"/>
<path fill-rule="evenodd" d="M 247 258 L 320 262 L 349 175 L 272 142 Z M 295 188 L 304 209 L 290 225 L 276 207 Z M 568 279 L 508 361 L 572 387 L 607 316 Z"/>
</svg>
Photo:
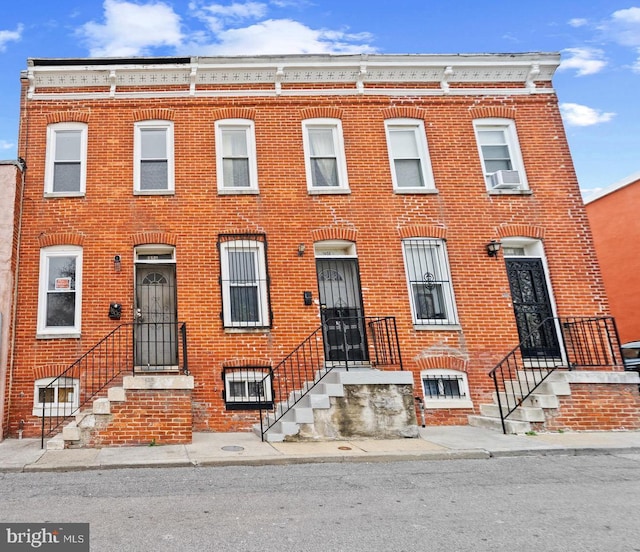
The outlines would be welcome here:
<svg viewBox="0 0 640 552">
<path fill-rule="evenodd" d="M 111 421 L 92 434 L 90 447 L 191 443 L 191 391 L 127 390 L 111 403 Z"/>
</svg>

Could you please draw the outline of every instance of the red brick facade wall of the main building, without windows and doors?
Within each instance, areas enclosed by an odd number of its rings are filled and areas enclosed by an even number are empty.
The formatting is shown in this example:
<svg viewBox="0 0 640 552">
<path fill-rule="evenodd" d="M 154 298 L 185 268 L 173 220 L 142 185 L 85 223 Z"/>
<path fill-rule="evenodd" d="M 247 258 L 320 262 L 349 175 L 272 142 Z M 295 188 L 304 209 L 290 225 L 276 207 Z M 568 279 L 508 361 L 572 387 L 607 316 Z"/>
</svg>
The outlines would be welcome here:
<svg viewBox="0 0 640 552">
<path fill-rule="evenodd" d="M 172 196 L 132 193 L 133 124 L 145 109 L 169 110 L 175 124 Z M 218 196 L 215 118 L 242 116 L 247 109 L 255 114 L 260 194 Z M 46 127 L 60 111 L 80 112 L 88 121 L 82 198 L 43 198 Z M 301 121 L 309 113 L 340 116 L 351 194 L 307 193 Z M 485 189 L 472 121 L 505 114 L 516 122 L 531 195 L 493 196 Z M 438 194 L 393 193 L 384 121 L 404 116 L 424 121 Z M 250 356 L 275 366 L 318 327 L 318 308 L 304 306 L 302 292 L 317 297 L 313 241 L 323 234 L 353 236 L 365 312 L 396 317 L 405 369 L 414 371 L 416 389 L 419 358 L 432 349 L 460 351 L 468 359 L 476 408 L 490 401 L 487 372 L 518 342 L 504 262 L 487 257 L 488 240 L 544 235 L 558 314 L 608 311 L 553 95 L 41 99 L 27 102 L 21 121 L 20 155 L 29 171 L 11 432 L 31 409 L 34 368 L 54 359 L 71 362 L 113 329 L 118 322 L 107 316 L 112 301 L 123 305 L 123 322 L 132 320 L 133 246 L 144 233 L 160 233 L 176 245 L 178 316 L 188 324 L 199 431 L 249 429 L 257 421 L 257 413 L 225 409 L 223 363 Z M 420 331 L 412 325 L 401 238 L 415 235 L 414 228 L 446 236 L 460 329 Z M 268 332 L 222 328 L 216 239 L 237 231 L 267 236 L 274 313 Z M 82 338 L 36 340 L 39 250 L 43 240 L 61 233 L 83 246 Z M 302 257 L 299 243 L 306 244 Z M 122 256 L 119 272 L 113 268 L 116 254 Z M 460 423 L 461 417 L 456 412 L 440 422 Z"/>
</svg>

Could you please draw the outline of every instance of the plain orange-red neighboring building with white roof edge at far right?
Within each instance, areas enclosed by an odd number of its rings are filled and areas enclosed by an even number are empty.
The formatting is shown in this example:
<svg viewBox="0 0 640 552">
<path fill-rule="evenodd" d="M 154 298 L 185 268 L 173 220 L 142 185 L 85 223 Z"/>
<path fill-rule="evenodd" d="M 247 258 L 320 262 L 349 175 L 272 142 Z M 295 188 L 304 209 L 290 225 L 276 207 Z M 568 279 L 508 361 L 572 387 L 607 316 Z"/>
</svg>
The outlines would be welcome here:
<svg viewBox="0 0 640 552">
<path fill-rule="evenodd" d="M 640 173 L 585 201 L 602 279 L 620 341 L 640 340 Z"/>
</svg>

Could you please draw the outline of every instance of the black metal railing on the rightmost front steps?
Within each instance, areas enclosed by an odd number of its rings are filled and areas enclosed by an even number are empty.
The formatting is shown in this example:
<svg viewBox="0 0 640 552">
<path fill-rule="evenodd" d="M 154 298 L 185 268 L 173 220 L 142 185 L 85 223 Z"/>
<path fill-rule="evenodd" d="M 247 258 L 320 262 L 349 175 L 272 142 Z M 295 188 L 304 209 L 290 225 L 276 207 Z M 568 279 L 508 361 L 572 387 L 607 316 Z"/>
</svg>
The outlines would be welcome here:
<svg viewBox="0 0 640 552">
<path fill-rule="evenodd" d="M 550 336 L 557 339 L 551 346 Z M 507 433 L 506 419 L 558 368 L 618 365 L 622 365 L 622 354 L 612 317 L 543 320 L 489 372 L 503 433 Z"/>
</svg>

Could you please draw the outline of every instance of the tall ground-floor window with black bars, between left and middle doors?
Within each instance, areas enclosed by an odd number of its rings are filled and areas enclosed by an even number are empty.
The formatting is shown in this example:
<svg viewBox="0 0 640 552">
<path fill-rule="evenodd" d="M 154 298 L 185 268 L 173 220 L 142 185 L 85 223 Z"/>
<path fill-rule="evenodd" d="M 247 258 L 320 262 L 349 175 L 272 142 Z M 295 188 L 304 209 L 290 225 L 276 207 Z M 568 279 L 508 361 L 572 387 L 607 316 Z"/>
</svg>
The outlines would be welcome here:
<svg viewBox="0 0 640 552">
<path fill-rule="evenodd" d="M 271 325 L 266 245 L 264 234 L 218 237 L 222 319 L 226 328 Z"/>
</svg>

